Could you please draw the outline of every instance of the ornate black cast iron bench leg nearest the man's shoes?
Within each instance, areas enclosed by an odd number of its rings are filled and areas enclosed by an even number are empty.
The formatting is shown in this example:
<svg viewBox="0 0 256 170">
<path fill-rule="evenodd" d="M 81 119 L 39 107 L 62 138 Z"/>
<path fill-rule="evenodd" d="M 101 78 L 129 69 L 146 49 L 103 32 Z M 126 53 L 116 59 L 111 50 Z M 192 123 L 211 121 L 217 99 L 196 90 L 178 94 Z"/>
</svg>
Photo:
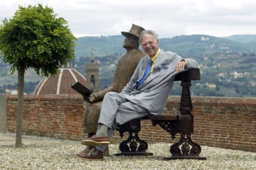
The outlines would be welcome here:
<svg viewBox="0 0 256 170">
<path fill-rule="evenodd" d="M 125 132 L 129 133 L 129 137 L 123 140 L 119 144 L 119 150 L 121 153 L 115 154 L 119 155 L 129 155 L 129 156 L 146 156 L 153 155 L 152 153 L 147 153 L 147 142 L 141 140 L 138 136 L 140 131 L 140 119 L 131 120 L 123 125 L 117 126 L 117 131 L 119 131 L 120 136 L 123 137 Z"/>
</svg>

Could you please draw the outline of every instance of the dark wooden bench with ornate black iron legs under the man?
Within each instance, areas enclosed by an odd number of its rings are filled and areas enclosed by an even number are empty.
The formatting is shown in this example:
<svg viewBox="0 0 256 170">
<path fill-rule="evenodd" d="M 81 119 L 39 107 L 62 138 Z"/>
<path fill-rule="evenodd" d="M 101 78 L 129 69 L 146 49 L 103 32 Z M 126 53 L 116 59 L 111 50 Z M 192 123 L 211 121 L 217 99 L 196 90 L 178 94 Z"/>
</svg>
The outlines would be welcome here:
<svg viewBox="0 0 256 170">
<path fill-rule="evenodd" d="M 159 125 L 162 129 L 170 134 L 172 139 L 176 134 L 180 134 L 180 140 L 177 143 L 173 143 L 170 146 L 170 153 L 172 156 L 164 158 L 169 159 L 203 159 L 200 157 L 201 147 L 191 139 L 191 134 L 194 132 L 194 115 L 191 113 L 193 105 L 190 97 L 191 81 L 200 80 L 200 69 L 189 69 L 185 72 L 181 72 L 175 77 L 175 81 L 181 81 L 182 94 L 180 101 L 180 114 L 178 115 L 148 115 L 141 119 L 151 120 L 152 125 Z M 118 125 L 117 131 L 120 136 L 123 137 L 125 132 L 129 133 L 126 140 L 123 140 L 119 144 L 119 150 L 121 153 L 118 155 L 153 155 L 147 153 L 147 142 L 139 138 L 139 132 L 141 129 L 141 119 L 134 119 L 123 125 Z"/>
</svg>

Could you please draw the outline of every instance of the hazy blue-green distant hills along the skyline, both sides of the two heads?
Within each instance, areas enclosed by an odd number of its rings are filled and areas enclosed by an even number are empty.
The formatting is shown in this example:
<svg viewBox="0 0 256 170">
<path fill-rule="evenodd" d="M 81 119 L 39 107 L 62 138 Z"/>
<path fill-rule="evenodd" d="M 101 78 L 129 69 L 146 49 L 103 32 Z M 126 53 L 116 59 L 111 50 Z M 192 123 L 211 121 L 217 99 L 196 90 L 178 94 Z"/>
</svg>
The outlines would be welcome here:
<svg viewBox="0 0 256 170">
<path fill-rule="evenodd" d="M 124 36 L 99 36 L 78 38 L 75 47 L 77 58 L 90 57 L 93 46 L 95 56 L 114 53 L 125 53 L 122 47 Z M 181 56 L 202 56 L 214 53 L 251 53 L 256 51 L 256 35 L 234 35 L 220 38 L 208 35 L 181 35 L 160 39 L 160 47 L 164 51 L 173 51 Z"/>
</svg>

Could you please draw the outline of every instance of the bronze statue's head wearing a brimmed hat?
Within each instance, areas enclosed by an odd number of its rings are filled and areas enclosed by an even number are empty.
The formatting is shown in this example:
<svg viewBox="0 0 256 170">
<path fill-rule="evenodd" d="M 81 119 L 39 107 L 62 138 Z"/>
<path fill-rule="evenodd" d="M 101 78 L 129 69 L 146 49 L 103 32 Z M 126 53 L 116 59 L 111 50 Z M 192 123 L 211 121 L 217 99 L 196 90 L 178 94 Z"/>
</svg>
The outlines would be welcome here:
<svg viewBox="0 0 256 170">
<path fill-rule="evenodd" d="M 132 25 L 132 28 L 129 32 L 121 32 L 123 36 L 125 36 L 125 40 L 123 43 L 124 48 L 139 48 L 139 37 L 140 33 L 145 30 L 140 26 Z"/>
</svg>

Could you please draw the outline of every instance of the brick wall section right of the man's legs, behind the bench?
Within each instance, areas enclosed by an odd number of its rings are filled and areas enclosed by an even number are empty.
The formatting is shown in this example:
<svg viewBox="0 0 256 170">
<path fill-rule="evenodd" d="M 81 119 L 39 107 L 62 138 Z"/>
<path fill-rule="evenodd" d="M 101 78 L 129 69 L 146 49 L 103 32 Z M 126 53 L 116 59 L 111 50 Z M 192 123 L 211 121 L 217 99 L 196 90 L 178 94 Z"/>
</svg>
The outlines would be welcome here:
<svg viewBox="0 0 256 170">
<path fill-rule="evenodd" d="M 256 98 L 194 96 L 191 100 L 194 142 L 210 147 L 256 151 Z M 179 114 L 179 103 L 180 96 L 170 96 L 164 114 Z M 173 142 L 160 127 L 152 128 L 150 120 L 142 120 L 140 138 Z"/>
</svg>

